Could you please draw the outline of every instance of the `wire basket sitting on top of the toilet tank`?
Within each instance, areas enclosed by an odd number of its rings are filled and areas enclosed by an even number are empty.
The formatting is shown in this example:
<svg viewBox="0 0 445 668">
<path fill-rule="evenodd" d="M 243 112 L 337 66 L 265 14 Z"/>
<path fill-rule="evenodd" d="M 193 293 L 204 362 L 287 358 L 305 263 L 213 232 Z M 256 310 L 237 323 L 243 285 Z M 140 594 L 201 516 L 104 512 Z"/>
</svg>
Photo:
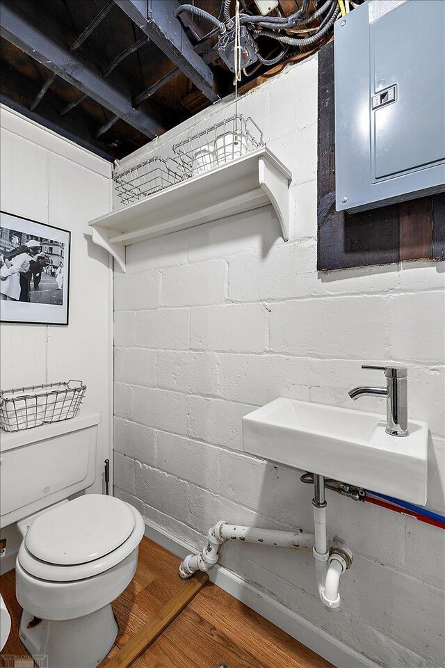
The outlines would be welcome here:
<svg viewBox="0 0 445 668">
<path fill-rule="evenodd" d="M 20 431 L 74 417 L 81 406 L 86 385 L 61 381 L 29 388 L 0 390 L 0 427 Z"/>
</svg>

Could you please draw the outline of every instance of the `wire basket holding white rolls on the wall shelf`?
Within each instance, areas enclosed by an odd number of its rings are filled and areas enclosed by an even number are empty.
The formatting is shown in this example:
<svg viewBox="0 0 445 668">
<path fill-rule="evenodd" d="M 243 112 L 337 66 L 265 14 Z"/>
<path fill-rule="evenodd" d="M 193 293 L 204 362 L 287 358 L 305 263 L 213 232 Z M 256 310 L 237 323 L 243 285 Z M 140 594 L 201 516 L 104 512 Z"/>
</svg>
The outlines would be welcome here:
<svg viewBox="0 0 445 668">
<path fill-rule="evenodd" d="M 236 114 L 179 141 L 173 152 L 184 169 L 196 176 L 261 146 L 263 133 L 258 125 L 250 116 Z"/>
</svg>

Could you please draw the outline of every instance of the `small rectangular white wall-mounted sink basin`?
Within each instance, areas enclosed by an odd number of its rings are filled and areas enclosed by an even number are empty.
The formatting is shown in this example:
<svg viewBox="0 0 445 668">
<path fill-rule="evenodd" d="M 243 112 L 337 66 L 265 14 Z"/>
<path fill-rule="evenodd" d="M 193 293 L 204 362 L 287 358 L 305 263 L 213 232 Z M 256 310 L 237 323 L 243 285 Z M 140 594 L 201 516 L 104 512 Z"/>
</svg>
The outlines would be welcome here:
<svg viewBox="0 0 445 668">
<path fill-rule="evenodd" d="M 428 424 L 390 436 L 386 417 L 275 399 L 243 417 L 243 450 L 300 470 L 426 504 Z"/>
</svg>

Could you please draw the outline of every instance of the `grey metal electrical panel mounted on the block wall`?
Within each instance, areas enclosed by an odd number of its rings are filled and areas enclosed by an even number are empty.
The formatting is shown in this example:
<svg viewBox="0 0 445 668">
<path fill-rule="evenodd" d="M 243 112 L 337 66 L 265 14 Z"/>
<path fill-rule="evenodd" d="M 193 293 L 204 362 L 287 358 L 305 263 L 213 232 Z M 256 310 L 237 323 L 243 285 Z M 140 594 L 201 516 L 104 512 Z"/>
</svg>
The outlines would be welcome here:
<svg viewBox="0 0 445 668">
<path fill-rule="evenodd" d="M 445 191 L 445 0 L 368 0 L 334 28 L 337 211 Z"/>
</svg>

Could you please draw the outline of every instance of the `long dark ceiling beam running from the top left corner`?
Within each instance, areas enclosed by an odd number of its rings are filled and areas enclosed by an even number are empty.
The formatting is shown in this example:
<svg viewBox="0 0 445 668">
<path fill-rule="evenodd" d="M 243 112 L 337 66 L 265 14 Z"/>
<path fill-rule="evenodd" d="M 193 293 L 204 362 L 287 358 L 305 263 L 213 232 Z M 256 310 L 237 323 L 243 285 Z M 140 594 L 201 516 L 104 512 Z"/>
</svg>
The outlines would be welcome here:
<svg viewBox="0 0 445 668">
<path fill-rule="evenodd" d="M 145 136 L 154 138 L 165 132 L 161 123 L 148 113 L 133 109 L 131 100 L 126 95 L 108 84 L 100 74 L 83 63 L 79 56 L 70 53 L 40 28 L 31 25 L 18 13 L 15 6 L 3 0 L 0 2 L 0 26 L 0 34 L 8 42 L 79 88 L 82 93 L 86 93 L 92 100 L 102 104 Z"/>
</svg>

